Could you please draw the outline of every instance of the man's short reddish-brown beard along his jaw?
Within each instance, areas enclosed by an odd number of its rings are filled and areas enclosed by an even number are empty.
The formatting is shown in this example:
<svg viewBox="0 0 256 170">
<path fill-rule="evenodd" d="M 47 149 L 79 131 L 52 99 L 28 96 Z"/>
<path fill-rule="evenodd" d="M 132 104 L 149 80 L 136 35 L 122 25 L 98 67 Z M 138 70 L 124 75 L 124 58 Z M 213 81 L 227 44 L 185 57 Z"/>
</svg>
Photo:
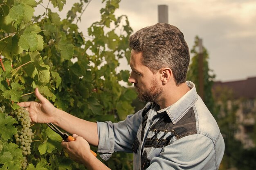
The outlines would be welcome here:
<svg viewBox="0 0 256 170">
<path fill-rule="evenodd" d="M 147 103 L 147 102 L 155 102 L 159 96 L 163 93 L 163 89 L 157 85 L 157 82 L 155 79 L 153 79 L 152 86 L 145 91 L 140 91 L 138 86 L 134 84 L 135 88 L 138 91 L 138 99 L 142 103 Z"/>
</svg>

